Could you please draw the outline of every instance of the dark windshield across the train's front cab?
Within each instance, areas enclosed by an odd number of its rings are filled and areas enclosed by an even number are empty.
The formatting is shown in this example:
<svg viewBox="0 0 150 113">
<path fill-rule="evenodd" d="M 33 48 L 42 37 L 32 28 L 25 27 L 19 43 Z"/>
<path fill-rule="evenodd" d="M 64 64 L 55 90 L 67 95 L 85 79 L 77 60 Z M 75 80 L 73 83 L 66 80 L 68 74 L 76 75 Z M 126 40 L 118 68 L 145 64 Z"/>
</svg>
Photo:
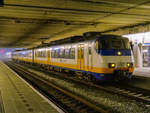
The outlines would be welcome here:
<svg viewBox="0 0 150 113">
<path fill-rule="evenodd" d="M 99 40 L 100 49 L 130 49 L 130 43 L 127 38 L 107 38 Z"/>
</svg>

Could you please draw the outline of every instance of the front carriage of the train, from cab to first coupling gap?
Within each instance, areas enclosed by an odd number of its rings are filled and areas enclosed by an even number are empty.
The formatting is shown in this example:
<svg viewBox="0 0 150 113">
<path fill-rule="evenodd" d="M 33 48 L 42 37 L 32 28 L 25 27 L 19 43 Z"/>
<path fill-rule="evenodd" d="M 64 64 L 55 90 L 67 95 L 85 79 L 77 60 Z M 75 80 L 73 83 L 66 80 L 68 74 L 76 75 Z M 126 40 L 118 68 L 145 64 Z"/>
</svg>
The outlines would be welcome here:
<svg viewBox="0 0 150 113">
<path fill-rule="evenodd" d="M 114 35 L 32 51 L 33 63 L 90 74 L 98 80 L 111 80 L 119 74 L 131 78 L 134 69 L 128 39 Z"/>
</svg>

